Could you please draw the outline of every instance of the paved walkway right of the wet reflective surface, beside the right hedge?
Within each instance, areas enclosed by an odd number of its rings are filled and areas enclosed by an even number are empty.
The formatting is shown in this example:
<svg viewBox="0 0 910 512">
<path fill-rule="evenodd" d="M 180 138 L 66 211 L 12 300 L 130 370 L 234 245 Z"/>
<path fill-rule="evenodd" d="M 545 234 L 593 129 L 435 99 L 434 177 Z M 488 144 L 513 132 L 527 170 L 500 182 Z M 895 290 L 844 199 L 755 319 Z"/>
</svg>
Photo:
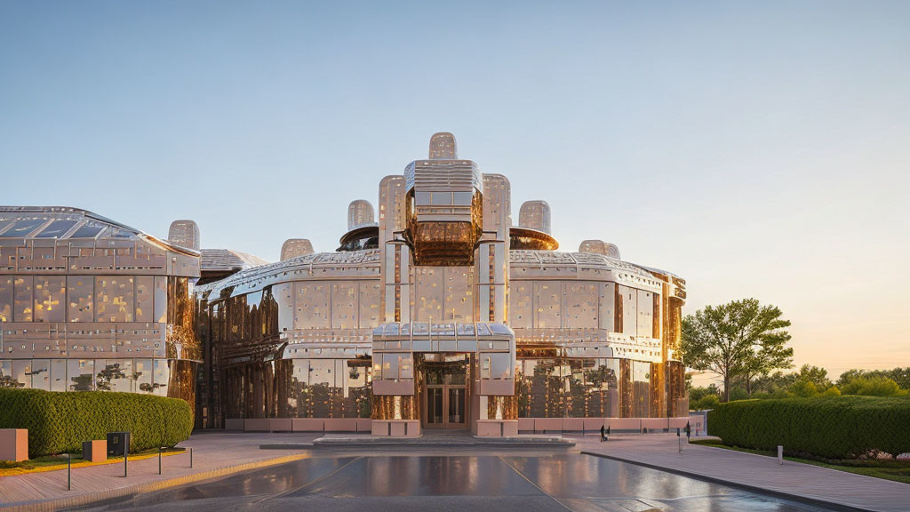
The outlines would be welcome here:
<svg viewBox="0 0 910 512">
<path fill-rule="evenodd" d="M 675 434 L 574 438 L 581 453 L 701 477 L 751 490 L 876 512 L 910 510 L 910 485 L 711 446 L 686 445 Z"/>
</svg>

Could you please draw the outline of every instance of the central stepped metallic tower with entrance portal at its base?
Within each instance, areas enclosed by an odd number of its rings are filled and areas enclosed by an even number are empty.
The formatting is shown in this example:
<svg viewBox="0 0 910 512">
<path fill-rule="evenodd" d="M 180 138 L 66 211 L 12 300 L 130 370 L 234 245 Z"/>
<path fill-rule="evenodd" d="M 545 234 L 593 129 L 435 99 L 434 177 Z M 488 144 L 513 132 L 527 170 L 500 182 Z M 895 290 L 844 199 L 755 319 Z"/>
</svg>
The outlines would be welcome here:
<svg viewBox="0 0 910 512">
<path fill-rule="evenodd" d="M 381 181 L 375 434 L 416 435 L 421 420 L 428 428 L 518 433 L 509 202 L 509 180 L 459 159 L 450 133 L 430 138 L 428 159 Z"/>
</svg>

